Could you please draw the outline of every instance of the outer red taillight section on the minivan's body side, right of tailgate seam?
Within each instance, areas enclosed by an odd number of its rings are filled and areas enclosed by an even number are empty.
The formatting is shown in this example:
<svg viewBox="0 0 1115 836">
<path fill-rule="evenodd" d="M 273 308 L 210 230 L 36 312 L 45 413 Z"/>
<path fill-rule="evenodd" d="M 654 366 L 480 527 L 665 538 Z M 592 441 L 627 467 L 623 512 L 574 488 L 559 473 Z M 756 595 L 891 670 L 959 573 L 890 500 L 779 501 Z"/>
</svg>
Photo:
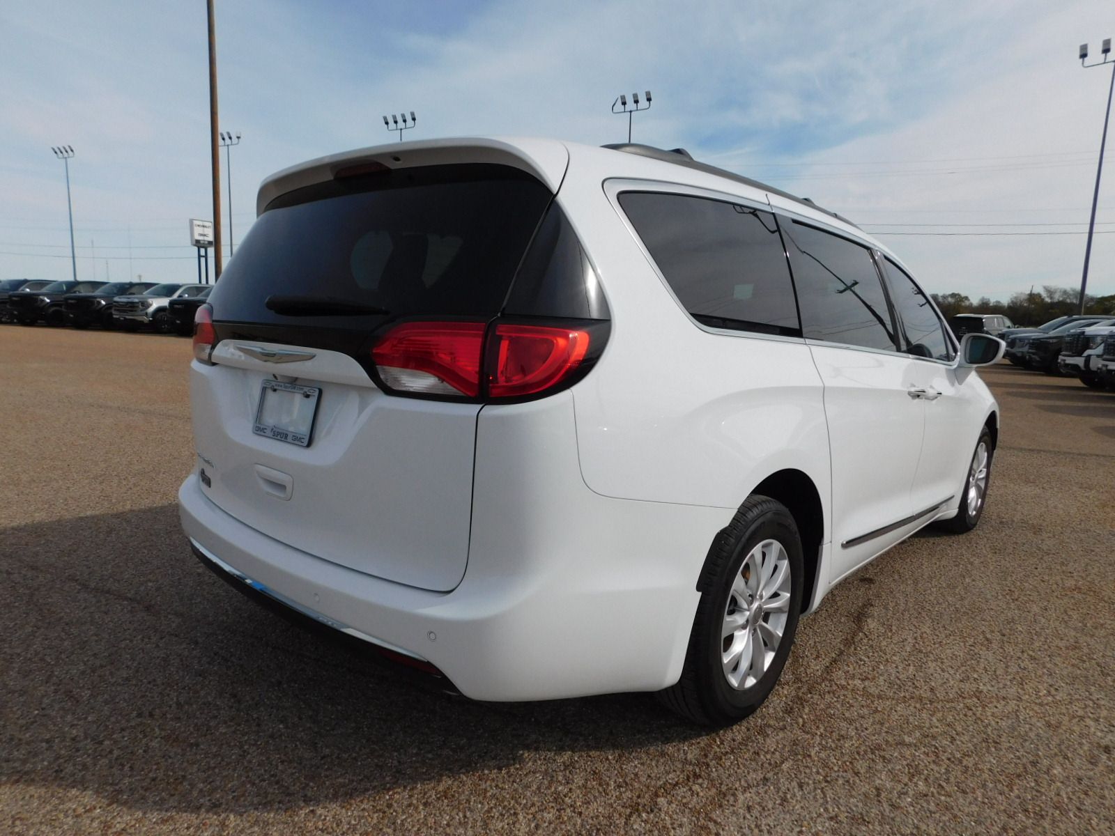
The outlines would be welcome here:
<svg viewBox="0 0 1115 836">
<path fill-rule="evenodd" d="M 536 395 L 569 377 L 588 350 L 586 331 L 498 324 L 488 343 L 487 393 L 493 398 Z"/>
</svg>

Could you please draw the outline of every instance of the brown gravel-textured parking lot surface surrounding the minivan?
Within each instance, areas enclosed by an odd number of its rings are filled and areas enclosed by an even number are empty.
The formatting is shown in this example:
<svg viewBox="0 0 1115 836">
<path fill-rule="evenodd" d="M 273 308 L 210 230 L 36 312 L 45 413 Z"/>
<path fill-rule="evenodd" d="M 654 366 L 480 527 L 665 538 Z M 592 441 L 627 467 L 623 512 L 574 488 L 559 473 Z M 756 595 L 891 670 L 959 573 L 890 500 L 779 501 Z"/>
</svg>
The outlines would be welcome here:
<svg viewBox="0 0 1115 836">
<path fill-rule="evenodd" d="M 229 590 L 174 505 L 188 358 L 0 325 L 0 833 L 1111 832 L 1115 393 L 985 371 L 980 528 L 837 587 L 707 732 L 428 693 Z"/>
</svg>

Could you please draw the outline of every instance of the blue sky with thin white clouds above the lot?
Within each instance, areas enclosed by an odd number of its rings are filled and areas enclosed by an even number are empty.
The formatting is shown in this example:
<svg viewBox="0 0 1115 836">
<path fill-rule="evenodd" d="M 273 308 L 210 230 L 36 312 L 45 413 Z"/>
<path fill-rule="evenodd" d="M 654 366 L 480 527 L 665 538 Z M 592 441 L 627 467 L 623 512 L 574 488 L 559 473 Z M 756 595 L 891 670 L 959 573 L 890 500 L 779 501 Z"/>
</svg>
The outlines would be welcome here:
<svg viewBox="0 0 1115 836">
<path fill-rule="evenodd" d="M 649 88 L 636 140 L 814 198 L 933 291 L 1079 283 L 1109 72 L 1075 57 L 1115 36 L 1106 0 L 216 7 L 221 127 L 243 134 L 236 240 L 263 177 L 391 140 L 385 113 L 417 111 L 415 138 L 602 144 L 626 136 L 615 95 Z M 58 144 L 76 150 L 79 278 L 196 274 L 206 61 L 204 0 L 0 7 L 0 278 L 69 276 Z M 1108 148 L 1115 161 L 1115 129 Z M 1097 293 L 1115 293 L 1115 165 L 1106 175 Z"/>
</svg>

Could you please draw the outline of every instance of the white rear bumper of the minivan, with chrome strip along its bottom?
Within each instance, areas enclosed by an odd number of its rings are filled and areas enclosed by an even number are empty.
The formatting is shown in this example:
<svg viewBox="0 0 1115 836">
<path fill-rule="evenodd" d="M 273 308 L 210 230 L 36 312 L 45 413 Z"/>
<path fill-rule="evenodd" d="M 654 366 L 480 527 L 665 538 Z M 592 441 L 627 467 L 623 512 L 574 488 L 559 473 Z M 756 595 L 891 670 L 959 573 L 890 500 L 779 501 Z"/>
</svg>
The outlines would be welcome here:
<svg viewBox="0 0 1115 836">
<path fill-rule="evenodd" d="M 445 593 L 273 539 L 211 502 L 196 473 L 183 483 L 178 504 L 183 528 L 214 566 L 319 623 L 428 661 L 466 697 L 517 701 L 666 688 L 685 661 L 708 544 L 731 514 L 581 488 L 582 523 L 554 519 L 546 528 L 535 519 L 530 545 L 515 522 L 475 536 L 486 514 L 477 496 L 468 570 Z M 493 512 L 515 521 L 506 497 Z M 624 507 L 617 513 L 617 506 Z M 683 552 L 681 532 L 689 535 Z"/>
</svg>

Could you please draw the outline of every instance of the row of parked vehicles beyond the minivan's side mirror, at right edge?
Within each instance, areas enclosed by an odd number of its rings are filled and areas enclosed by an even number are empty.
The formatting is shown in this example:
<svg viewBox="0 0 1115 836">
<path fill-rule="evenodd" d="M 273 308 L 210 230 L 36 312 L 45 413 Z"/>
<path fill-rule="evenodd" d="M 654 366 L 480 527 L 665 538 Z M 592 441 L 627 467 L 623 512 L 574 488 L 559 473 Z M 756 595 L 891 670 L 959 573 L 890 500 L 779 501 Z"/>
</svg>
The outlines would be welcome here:
<svg viewBox="0 0 1115 836">
<path fill-rule="evenodd" d="M 1115 315 L 1058 317 L 1037 328 L 1002 328 L 1005 319 L 967 313 L 953 317 L 950 324 L 958 336 L 982 331 L 1005 340 L 1004 357 L 1015 366 L 1076 377 L 1092 389 L 1115 390 Z"/>
</svg>

